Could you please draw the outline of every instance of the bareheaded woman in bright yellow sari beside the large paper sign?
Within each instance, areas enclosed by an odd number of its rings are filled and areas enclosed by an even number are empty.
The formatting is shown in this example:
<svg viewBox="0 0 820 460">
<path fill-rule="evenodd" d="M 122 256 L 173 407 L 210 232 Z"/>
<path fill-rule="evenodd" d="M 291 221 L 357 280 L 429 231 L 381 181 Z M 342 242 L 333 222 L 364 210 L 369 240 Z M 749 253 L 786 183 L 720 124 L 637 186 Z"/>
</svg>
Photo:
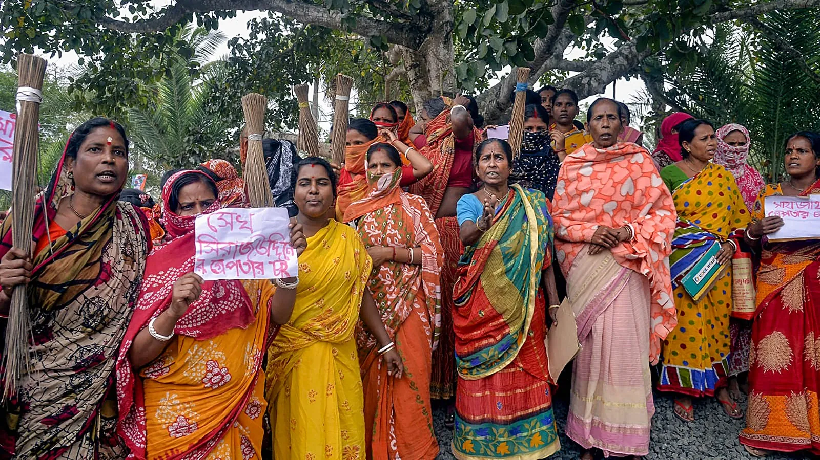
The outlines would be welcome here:
<svg viewBox="0 0 820 460">
<path fill-rule="evenodd" d="M 370 364 L 385 369 L 380 375 L 388 381 L 404 378 L 396 350 L 402 344 L 385 330 L 367 287 L 372 262 L 361 238 L 328 217 L 336 194 L 330 165 L 308 157 L 296 165 L 294 178 L 296 220 L 303 225 L 307 250 L 299 257 L 294 312 L 267 355 L 273 457 L 363 460 L 366 429 L 354 333 L 358 320 L 376 340 L 371 359 L 378 363 Z M 385 399 L 380 403 L 388 404 Z"/>
</svg>

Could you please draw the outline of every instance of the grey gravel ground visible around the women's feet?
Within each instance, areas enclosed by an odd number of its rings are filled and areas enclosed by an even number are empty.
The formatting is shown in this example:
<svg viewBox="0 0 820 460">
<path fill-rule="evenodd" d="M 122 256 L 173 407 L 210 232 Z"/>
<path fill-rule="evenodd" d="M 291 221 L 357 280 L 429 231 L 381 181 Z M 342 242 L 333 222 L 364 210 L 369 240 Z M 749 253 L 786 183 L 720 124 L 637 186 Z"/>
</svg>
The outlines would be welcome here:
<svg viewBox="0 0 820 460">
<path fill-rule="evenodd" d="M 566 374 L 566 372 L 565 372 Z M 562 382 L 563 383 L 563 382 Z M 554 395 L 553 411 L 558 421 L 558 435 L 561 437 L 561 450 L 550 459 L 576 459 L 581 454 L 579 446 L 564 435 L 564 423 L 567 422 L 569 405 L 567 385 Z M 695 399 L 695 422 L 687 423 L 672 413 L 672 396 L 655 392 L 655 415 L 652 418 L 652 443 L 649 444 L 649 455 L 646 460 L 724 460 L 734 458 L 754 458 L 746 453 L 737 440 L 737 435 L 745 425 L 744 420 L 733 420 L 725 413 L 713 398 Z M 740 404 L 745 408 L 745 401 Z M 450 441 L 453 432 L 444 427 L 446 409 L 444 405 L 434 403 L 435 432 L 439 439 L 441 453 L 438 460 L 451 460 Z M 767 460 L 794 460 L 811 458 L 806 454 L 776 454 Z"/>
</svg>

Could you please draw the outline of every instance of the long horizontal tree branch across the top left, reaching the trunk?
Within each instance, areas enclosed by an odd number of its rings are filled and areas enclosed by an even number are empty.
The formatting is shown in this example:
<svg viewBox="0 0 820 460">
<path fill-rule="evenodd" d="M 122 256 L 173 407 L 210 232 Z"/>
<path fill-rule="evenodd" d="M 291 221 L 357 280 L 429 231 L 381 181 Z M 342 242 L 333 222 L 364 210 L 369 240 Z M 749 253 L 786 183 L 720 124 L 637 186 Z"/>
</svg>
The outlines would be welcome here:
<svg viewBox="0 0 820 460">
<path fill-rule="evenodd" d="M 180 0 L 174 6 L 167 7 L 159 16 L 140 19 L 134 22 L 116 20 L 109 17 L 99 19 L 99 23 L 108 29 L 130 34 L 146 34 L 164 30 L 193 13 L 209 11 L 234 10 L 271 10 L 277 11 L 303 24 L 320 25 L 329 29 L 343 29 L 344 15 L 339 11 L 329 10 L 314 3 L 298 0 Z M 421 22 L 421 25 L 420 25 Z M 354 33 L 369 37 L 384 35 L 389 43 L 395 43 L 417 49 L 427 35 L 426 21 L 414 23 L 390 22 L 368 17 L 357 17 Z"/>
</svg>

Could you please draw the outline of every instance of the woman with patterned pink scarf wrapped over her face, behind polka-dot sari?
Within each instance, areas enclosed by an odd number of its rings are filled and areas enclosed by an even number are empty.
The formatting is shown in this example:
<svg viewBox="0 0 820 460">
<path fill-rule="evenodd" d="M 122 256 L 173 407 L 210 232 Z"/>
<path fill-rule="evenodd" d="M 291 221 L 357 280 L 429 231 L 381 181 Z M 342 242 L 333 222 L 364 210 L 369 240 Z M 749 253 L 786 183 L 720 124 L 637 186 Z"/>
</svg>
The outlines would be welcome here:
<svg viewBox="0 0 820 460">
<path fill-rule="evenodd" d="M 735 176 L 740 196 L 749 210 L 754 209 L 758 193 L 766 186 L 763 176 L 748 163 L 751 138 L 745 126 L 736 123 L 725 124 L 715 132 L 717 150 L 714 162 Z M 729 359 L 729 389 L 732 396 L 739 399 L 738 375 L 749 371 L 749 346 L 752 339 L 752 323 L 737 318 L 729 320 L 731 337 L 731 358 Z"/>
</svg>

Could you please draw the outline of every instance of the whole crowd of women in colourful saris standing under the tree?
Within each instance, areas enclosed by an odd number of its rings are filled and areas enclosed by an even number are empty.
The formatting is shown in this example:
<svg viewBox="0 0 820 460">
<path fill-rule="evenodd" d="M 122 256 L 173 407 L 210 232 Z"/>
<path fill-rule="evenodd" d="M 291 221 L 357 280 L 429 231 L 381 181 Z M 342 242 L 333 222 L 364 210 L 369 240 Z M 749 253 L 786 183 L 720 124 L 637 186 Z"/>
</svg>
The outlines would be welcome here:
<svg viewBox="0 0 820 460">
<path fill-rule="evenodd" d="M 2 458 L 432 459 L 431 400 L 453 397 L 456 458 L 546 458 L 565 305 L 581 458 L 649 453 L 654 389 L 681 422 L 704 396 L 745 417 L 754 456 L 820 453 L 820 241 L 768 241 L 783 221 L 765 210 L 820 193 L 820 135 L 786 139 L 767 185 L 739 124 L 669 115 L 650 154 L 620 102 L 579 126 L 572 90 L 526 101 L 517 155 L 464 96 L 417 121 L 376 105 L 343 165 L 265 140 L 298 255 L 275 280 L 193 273 L 196 217 L 248 206 L 230 163 L 169 171 L 155 205 L 123 191 L 122 126 L 80 125 L 37 197 L 33 253 L 0 228 L 0 313 L 25 286 L 35 357 L 2 406 Z M 693 297 L 683 279 L 715 248 L 722 272 Z M 757 298 L 740 315 L 744 253 Z"/>
</svg>

